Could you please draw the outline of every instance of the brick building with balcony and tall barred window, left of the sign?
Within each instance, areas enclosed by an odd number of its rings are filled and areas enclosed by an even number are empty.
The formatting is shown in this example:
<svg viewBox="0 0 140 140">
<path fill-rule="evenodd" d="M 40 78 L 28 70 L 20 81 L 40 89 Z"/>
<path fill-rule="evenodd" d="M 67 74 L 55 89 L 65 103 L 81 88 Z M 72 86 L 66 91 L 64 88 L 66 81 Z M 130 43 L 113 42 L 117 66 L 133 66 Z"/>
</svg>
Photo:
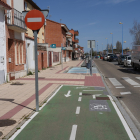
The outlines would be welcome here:
<svg viewBox="0 0 140 140">
<path fill-rule="evenodd" d="M 7 0 L 7 4 L 12 8 L 6 11 L 5 16 L 7 80 L 9 81 L 27 74 L 25 69 L 25 32 L 27 29 L 22 15 L 24 0 Z"/>
</svg>

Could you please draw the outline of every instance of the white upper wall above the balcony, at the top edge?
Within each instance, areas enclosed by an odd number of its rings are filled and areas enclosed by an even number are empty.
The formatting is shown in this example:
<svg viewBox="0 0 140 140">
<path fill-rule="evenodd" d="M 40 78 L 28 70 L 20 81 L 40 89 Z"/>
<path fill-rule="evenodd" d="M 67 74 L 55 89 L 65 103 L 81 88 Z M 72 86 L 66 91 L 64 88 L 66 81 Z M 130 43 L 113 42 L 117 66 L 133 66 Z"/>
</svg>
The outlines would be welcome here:
<svg viewBox="0 0 140 140">
<path fill-rule="evenodd" d="M 24 0 L 14 0 L 14 8 L 22 13 L 24 11 Z"/>
</svg>

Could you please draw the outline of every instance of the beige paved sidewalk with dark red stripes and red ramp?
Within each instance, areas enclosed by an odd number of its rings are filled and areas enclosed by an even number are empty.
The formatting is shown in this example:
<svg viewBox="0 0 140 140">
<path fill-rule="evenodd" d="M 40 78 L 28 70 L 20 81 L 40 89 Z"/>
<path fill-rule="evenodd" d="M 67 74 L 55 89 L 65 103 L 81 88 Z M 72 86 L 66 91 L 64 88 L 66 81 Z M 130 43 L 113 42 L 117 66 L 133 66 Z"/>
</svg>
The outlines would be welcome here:
<svg viewBox="0 0 140 140">
<path fill-rule="evenodd" d="M 81 85 L 81 86 L 102 86 L 99 73 L 93 74 L 68 74 L 65 73 L 72 67 L 82 64 L 81 60 L 70 61 L 61 65 L 53 66 L 38 73 L 39 76 L 39 102 L 40 105 L 60 86 L 60 85 Z M 11 85 L 19 82 L 21 85 Z M 22 85 L 23 84 L 23 85 Z M 35 111 L 35 76 L 30 75 L 0 85 L 0 125 L 5 119 L 15 120 L 11 126 L 0 126 L 0 139 L 7 136 L 19 123 Z"/>
</svg>

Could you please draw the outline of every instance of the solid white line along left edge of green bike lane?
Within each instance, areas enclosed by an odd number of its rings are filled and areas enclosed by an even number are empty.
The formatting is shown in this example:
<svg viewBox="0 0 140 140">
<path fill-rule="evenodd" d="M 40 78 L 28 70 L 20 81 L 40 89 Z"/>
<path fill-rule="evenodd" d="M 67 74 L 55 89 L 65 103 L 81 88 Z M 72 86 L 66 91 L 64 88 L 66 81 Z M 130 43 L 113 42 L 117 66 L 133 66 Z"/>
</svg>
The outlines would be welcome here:
<svg viewBox="0 0 140 140">
<path fill-rule="evenodd" d="M 57 92 L 58 92 L 62 87 L 63 87 L 63 85 L 61 85 L 61 86 L 55 91 L 55 93 L 47 100 L 47 102 L 44 103 L 43 106 L 39 108 L 39 110 L 41 110 L 41 109 L 42 109 L 42 108 L 57 94 Z M 34 118 L 37 114 L 39 114 L 39 112 L 35 112 L 35 113 L 30 117 L 30 119 L 28 119 L 28 120 L 21 126 L 21 128 L 20 128 L 19 130 L 17 130 L 17 131 L 12 135 L 12 137 L 11 137 L 9 140 L 15 139 L 16 136 L 29 124 L 30 121 L 33 120 L 33 118 Z"/>
</svg>

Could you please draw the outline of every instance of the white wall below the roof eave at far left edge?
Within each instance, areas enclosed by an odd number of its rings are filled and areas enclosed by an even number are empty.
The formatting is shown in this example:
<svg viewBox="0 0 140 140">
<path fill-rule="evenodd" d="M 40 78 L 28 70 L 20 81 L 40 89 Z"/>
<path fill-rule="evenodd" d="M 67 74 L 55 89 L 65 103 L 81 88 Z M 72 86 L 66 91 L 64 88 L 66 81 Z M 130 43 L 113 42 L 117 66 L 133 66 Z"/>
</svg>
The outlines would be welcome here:
<svg viewBox="0 0 140 140">
<path fill-rule="evenodd" d="M 0 71 L 4 71 L 3 78 L 5 78 L 6 81 L 7 69 L 6 69 L 5 18 L 4 18 L 4 10 L 1 8 L 0 8 L 0 56 L 4 57 L 4 63 L 0 62 Z M 0 84 L 2 84 L 1 81 Z"/>
</svg>

